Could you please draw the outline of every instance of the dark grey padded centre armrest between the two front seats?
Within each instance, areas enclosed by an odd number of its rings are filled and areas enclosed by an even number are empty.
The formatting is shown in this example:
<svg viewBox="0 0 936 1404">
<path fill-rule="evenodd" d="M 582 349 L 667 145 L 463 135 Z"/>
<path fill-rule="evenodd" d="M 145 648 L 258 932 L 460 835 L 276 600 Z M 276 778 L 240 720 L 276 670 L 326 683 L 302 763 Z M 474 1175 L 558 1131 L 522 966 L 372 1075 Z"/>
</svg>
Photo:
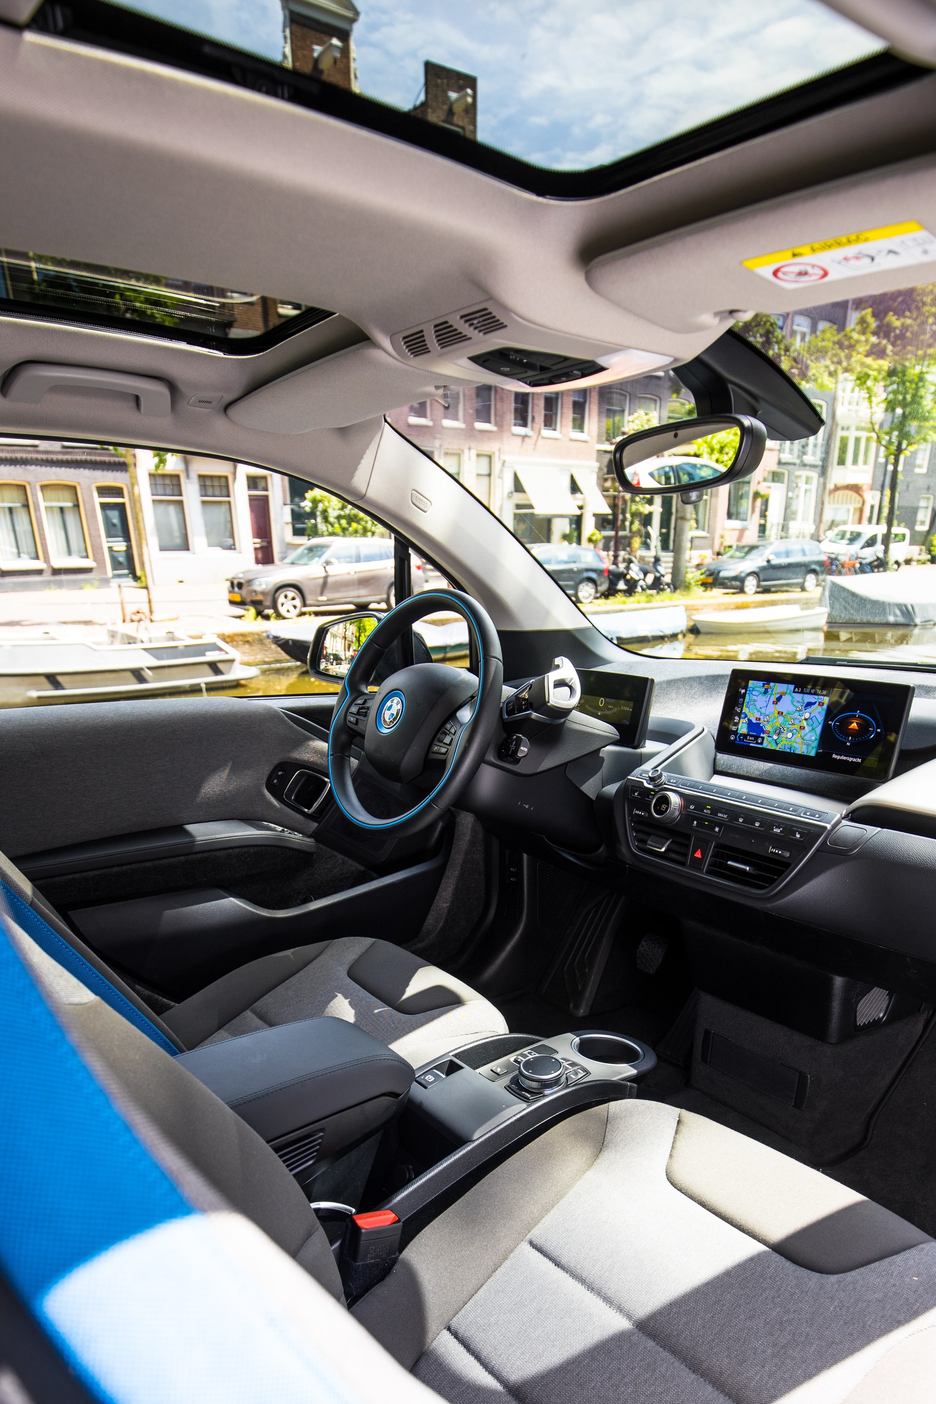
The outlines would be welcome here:
<svg viewBox="0 0 936 1404">
<path fill-rule="evenodd" d="M 306 1185 L 397 1116 L 413 1068 L 344 1019 L 300 1019 L 177 1061 L 272 1146 Z"/>
</svg>

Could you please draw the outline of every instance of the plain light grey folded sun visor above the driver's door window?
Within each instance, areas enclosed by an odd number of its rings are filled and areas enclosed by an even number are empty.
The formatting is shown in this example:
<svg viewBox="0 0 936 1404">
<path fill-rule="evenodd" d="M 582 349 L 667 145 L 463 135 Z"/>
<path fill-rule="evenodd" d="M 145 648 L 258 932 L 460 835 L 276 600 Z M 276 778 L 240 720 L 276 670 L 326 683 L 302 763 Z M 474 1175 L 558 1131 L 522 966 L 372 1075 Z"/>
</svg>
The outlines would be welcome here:
<svg viewBox="0 0 936 1404">
<path fill-rule="evenodd" d="M 431 375 L 431 372 L 429 372 Z M 234 424 L 267 434 L 340 430 L 425 399 L 425 371 L 400 365 L 368 341 L 303 365 L 227 406 Z"/>
</svg>

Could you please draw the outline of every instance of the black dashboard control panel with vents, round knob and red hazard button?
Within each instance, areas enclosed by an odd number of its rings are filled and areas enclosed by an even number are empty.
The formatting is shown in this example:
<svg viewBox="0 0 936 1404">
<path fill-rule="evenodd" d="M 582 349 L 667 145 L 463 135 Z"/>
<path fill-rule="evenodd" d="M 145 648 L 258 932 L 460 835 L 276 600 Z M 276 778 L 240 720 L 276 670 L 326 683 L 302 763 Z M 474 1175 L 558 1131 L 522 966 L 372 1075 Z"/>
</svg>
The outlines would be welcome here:
<svg viewBox="0 0 936 1404">
<path fill-rule="evenodd" d="M 636 854 L 748 892 L 787 878 L 839 817 L 665 771 L 639 771 L 623 783 Z"/>
</svg>

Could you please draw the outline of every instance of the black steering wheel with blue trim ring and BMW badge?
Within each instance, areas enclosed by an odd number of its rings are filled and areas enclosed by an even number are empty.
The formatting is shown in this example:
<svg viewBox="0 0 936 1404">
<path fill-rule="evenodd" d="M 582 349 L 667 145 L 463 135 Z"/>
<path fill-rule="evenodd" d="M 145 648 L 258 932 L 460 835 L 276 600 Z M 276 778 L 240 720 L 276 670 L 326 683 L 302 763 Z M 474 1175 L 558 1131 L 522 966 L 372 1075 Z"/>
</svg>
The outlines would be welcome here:
<svg viewBox="0 0 936 1404">
<path fill-rule="evenodd" d="M 400 635 L 432 609 L 467 621 L 480 660 L 479 677 L 445 663 L 415 663 L 368 691 L 375 670 Z M 368 635 L 338 692 L 328 733 L 328 779 L 342 814 L 369 830 L 414 834 L 441 819 L 484 760 L 501 715 L 504 663 L 490 616 L 457 590 L 429 590 L 392 609 Z M 377 775 L 400 785 L 418 782 L 428 795 L 393 819 L 370 814 L 351 781 L 351 751 L 363 754 Z"/>
</svg>

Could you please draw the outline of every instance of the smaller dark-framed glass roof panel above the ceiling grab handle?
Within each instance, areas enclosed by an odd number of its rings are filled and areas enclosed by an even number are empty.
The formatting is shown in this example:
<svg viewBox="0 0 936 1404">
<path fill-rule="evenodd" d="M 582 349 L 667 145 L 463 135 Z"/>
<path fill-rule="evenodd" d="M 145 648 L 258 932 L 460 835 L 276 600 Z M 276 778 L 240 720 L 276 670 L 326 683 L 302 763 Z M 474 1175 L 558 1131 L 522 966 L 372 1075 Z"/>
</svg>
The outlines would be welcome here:
<svg viewBox="0 0 936 1404">
<path fill-rule="evenodd" d="M 180 278 L 0 249 L 0 314 L 149 331 L 233 352 L 261 351 L 330 317 L 321 307 Z"/>
</svg>

